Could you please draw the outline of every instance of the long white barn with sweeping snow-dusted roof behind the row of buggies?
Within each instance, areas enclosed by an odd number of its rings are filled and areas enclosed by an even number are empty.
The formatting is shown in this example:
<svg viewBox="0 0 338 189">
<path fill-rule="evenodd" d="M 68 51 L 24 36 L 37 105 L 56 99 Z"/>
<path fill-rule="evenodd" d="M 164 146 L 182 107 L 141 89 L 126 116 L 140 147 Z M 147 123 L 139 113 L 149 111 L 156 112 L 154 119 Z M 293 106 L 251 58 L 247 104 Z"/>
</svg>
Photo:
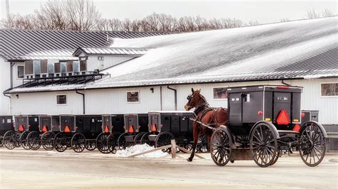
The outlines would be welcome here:
<svg viewBox="0 0 338 189">
<path fill-rule="evenodd" d="M 227 107 L 227 87 L 287 83 L 304 87 L 302 109 L 319 110 L 319 122 L 330 131 L 338 130 L 337 21 L 338 17 L 319 18 L 113 38 L 109 47 L 79 46 L 73 50 L 76 59 L 109 75 L 82 84 L 39 82 L 12 87 L 4 92 L 11 97 L 7 114 L 183 110 L 191 87 L 201 89 L 211 106 Z M 1 75 L 4 90 L 9 85 L 2 77 L 9 76 Z"/>
</svg>

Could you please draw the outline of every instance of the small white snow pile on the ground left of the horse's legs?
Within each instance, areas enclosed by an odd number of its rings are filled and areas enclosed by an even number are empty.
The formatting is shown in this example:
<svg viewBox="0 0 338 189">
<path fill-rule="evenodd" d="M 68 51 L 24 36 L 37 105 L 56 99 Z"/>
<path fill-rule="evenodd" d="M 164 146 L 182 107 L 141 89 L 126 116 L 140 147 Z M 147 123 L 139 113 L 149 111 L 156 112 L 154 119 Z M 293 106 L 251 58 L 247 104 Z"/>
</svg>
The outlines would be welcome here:
<svg viewBox="0 0 338 189">
<path fill-rule="evenodd" d="M 135 153 L 140 153 L 143 151 L 152 150 L 154 147 L 149 146 L 148 144 L 137 144 L 135 146 L 131 146 L 130 148 L 126 148 L 125 150 L 119 150 L 116 152 L 116 155 L 121 157 L 127 157 L 130 155 L 133 155 Z M 168 153 L 165 153 L 163 151 L 153 151 L 151 153 L 145 153 L 141 156 L 137 157 L 144 157 L 144 158 L 162 158 L 168 156 Z"/>
</svg>

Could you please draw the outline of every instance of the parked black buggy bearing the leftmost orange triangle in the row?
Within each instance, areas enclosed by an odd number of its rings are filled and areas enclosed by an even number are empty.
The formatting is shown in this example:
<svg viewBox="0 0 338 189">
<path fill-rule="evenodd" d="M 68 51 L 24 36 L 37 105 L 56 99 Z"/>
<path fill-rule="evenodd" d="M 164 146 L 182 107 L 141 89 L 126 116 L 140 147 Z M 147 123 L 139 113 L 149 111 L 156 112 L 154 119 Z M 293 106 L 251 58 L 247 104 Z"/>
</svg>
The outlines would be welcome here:
<svg viewBox="0 0 338 189">
<path fill-rule="evenodd" d="M 28 150 L 29 144 L 27 136 L 31 131 L 39 131 L 39 116 L 14 116 L 14 131 L 7 131 L 6 134 L 4 134 L 4 146 L 8 149 L 22 146 Z"/>
</svg>

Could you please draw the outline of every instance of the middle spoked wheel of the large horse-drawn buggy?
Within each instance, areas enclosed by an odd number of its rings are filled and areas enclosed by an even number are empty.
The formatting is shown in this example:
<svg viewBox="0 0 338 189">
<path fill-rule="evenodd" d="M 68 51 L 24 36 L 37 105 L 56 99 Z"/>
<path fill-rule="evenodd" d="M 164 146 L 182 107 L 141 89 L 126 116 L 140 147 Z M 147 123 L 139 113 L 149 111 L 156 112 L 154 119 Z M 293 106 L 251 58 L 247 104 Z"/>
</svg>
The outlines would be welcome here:
<svg viewBox="0 0 338 189">
<path fill-rule="evenodd" d="M 277 137 L 269 124 L 259 123 L 252 128 L 250 151 L 255 163 L 262 168 L 272 165 L 275 161 L 278 151 Z"/>
</svg>

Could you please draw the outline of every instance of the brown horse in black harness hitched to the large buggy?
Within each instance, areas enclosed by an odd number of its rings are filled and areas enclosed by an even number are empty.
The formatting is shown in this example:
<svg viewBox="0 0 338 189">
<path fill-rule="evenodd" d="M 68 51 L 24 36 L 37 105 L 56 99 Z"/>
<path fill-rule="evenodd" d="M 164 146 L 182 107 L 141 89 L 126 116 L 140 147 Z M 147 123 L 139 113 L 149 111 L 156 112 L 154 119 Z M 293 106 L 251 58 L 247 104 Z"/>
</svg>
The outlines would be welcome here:
<svg viewBox="0 0 338 189">
<path fill-rule="evenodd" d="M 227 126 L 228 124 L 227 109 L 224 109 L 222 107 L 212 108 L 208 104 L 205 97 L 203 97 L 203 95 L 200 95 L 200 90 L 194 91 L 194 89 L 191 88 L 191 91 L 193 92 L 193 94 L 188 95 L 187 97 L 188 102 L 184 106 L 185 110 L 189 111 L 190 109 L 195 108 L 194 110 L 195 119 L 204 124 L 208 124 L 215 128 L 217 128 L 220 125 Z M 208 145 L 210 149 L 210 139 L 212 135 L 212 129 L 209 129 L 205 126 L 201 126 L 200 124 L 198 124 L 198 122 L 194 121 L 194 127 L 193 127 L 194 144 L 193 144 L 191 155 L 187 159 L 187 161 L 193 161 L 193 158 L 195 156 L 196 145 L 198 144 L 198 136 L 200 134 L 205 134 L 205 136 L 207 136 Z"/>
</svg>

